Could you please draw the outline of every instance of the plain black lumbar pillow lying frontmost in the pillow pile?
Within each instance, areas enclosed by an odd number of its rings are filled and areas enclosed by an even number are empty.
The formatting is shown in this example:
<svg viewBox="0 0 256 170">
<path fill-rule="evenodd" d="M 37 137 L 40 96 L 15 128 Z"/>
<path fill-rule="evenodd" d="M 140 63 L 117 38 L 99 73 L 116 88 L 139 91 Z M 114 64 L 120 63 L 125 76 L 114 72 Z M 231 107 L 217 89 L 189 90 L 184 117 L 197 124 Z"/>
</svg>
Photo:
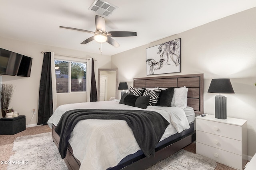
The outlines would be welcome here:
<svg viewBox="0 0 256 170">
<path fill-rule="evenodd" d="M 150 96 L 134 96 L 124 93 L 119 103 L 146 109 L 148 106 L 149 98 Z"/>
</svg>

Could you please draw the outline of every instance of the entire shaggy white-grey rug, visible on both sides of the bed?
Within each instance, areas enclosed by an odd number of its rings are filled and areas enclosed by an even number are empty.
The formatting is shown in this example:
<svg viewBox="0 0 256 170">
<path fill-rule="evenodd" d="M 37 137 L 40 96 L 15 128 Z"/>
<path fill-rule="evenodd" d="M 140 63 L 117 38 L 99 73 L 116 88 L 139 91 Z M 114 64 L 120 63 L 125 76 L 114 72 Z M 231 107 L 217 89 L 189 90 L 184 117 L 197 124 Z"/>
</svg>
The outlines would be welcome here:
<svg viewBox="0 0 256 170">
<path fill-rule="evenodd" d="M 18 137 L 8 170 L 68 170 L 51 133 Z M 214 170 L 217 164 L 204 156 L 180 150 L 147 170 Z"/>
</svg>

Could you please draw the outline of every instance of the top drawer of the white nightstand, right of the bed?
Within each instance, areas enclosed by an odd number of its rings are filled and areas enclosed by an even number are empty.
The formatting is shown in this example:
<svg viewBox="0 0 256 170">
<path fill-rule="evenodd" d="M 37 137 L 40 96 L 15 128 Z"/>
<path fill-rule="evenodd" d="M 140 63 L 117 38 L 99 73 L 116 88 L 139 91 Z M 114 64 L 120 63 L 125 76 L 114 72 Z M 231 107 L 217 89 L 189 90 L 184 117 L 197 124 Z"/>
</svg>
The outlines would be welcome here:
<svg viewBox="0 0 256 170">
<path fill-rule="evenodd" d="M 196 130 L 242 141 L 242 127 L 237 125 L 196 119 Z"/>
</svg>

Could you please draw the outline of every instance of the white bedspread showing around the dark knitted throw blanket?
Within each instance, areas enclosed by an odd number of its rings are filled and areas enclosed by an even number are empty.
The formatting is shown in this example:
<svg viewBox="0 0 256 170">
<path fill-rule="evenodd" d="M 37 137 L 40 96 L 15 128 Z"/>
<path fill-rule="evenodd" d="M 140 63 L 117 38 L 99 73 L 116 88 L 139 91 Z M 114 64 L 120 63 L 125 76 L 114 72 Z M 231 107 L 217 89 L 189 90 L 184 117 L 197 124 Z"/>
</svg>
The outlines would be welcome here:
<svg viewBox="0 0 256 170">
<path fill-rule="evenodd" d="M 104 102 L 88 102 L 66 104 L 59 106 L 48 120 L 48 125 L 57 125 L 63 113 L 72 109 L 136 109 L 118 103 L 119 100 Z M 178 107 L 148 106 L 146 110 L 157 111 L 169 123 L 160 141 L 189 129 L 184 110 Z M 81 170 L 106 170 L 116 166 L 120 160 L 129 154 L 140 150 L 132 130 L 126 121 L 87 119 L 77 123 L 68 141 L 73 149 L 74 156 L 80 160 Z"/>
</svg>

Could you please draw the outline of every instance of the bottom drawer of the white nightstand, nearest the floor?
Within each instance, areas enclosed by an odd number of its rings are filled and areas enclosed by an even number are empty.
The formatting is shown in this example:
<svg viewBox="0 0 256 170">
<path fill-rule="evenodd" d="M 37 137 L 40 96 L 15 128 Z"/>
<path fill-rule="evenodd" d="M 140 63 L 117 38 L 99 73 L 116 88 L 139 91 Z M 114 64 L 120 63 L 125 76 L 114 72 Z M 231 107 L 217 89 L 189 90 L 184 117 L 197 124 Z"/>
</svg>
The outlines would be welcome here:
<svg viewBox="0 0 256 170">
<path fill-rule="evenodd" d="M 222 164 L 232 166 L 242 170 L 242 156 L 230 153 L 221 149 L 210 147 L 201 143 L 196 143 L 196 153 L 216 160 Z"/>
</svg>

